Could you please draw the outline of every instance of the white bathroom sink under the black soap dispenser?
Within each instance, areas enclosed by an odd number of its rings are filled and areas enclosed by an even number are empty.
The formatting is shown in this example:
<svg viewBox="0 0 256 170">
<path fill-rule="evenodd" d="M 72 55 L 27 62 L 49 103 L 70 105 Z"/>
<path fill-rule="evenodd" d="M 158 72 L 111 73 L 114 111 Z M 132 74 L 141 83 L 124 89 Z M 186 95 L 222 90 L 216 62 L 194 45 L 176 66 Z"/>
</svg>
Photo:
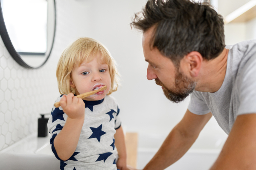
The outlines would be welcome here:
<svg viewBox="0 0 256 170">
<path fill-rule="evenodd" d="M 37 133 L 0 151 L 0 170 L 59 170 L 60 161 L 52 153 L 50 136 Z"/>
</svg>

